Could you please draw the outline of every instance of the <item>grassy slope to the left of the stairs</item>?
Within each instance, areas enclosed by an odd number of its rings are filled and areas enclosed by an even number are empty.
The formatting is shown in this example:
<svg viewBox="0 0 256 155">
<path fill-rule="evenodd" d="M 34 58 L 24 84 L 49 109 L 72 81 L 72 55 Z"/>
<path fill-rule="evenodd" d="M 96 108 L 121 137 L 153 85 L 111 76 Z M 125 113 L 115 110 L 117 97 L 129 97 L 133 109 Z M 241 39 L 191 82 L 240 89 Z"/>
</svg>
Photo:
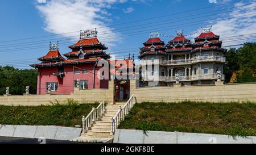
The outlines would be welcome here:
<svg viewBox="0 0 256 155">
<path fill-rule="evenodd" d="M 79 103 L 73 99 L 52 102 L 42 106 L 0 106 L 0 124 L 12 125 L 81 125 L 86 116 L 98 103 Z"/>
</svg>

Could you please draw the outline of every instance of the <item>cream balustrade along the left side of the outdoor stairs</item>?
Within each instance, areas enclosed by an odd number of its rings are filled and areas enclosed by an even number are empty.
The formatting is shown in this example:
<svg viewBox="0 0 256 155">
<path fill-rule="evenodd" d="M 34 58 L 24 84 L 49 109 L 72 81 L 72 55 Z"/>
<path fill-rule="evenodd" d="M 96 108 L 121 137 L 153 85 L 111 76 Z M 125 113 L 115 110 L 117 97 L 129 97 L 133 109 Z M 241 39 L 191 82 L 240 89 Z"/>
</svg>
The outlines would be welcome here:
<svg viewBox="0 0 256 155">
<path fill-rule="evenodd" d="M 86 133 L 89 127 L 96 122 L 97 119 L 102 118 L 105 112 L 105 101 L 101 102 L 97 108 L 92 108 L 92 111 L 86 116 L 82 116 L 82 133 Z"/>
</svg>

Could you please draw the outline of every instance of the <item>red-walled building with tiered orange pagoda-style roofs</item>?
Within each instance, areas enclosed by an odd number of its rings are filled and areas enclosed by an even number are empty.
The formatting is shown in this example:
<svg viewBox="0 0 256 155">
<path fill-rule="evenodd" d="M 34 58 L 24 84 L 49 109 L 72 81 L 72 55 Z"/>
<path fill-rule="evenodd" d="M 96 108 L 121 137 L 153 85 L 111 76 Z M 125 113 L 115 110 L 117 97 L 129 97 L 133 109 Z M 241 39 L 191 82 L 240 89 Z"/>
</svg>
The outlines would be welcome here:
<svg viewBox="0 0 256 155">
<path fill-rule="evenodd" d="M 80 32 L 80 40 L 77 43 L 70 45 L 71 52 L 64 53 L 64 58 L 61 56 L 57 44 L 49 46 L 48 53 L 38 58 L 42 61 L 39 64 L 31 66 L 38 69 L 38 89 L 37 94 L 46 94 L 51 89 L 52 94 L 70 94 L 77 86 L 79 80 L 80 90 L 82 89 L 108 89 L 108 79 L 98 78 L 100 68 L 97 66 L 98 61 L 110 58 L 105 50 L 108 49 L 97 39 L 96 30 L 86 30 Z M 122 61 L 123 62 L 123 61 Z M 125 60 L 125 62 L 128 62 Z M 108 60 L 110 64 L 117 64 L 114 72 L 123 64 L 116 61 Z M 121 65 L 121 66 L 120 66 Z M 110 77 L 110 74 L 108 75 Z M 126 81 L 127 83 L 129 81 Z M 116 98 L 123 98 L 127 95 L 126 85 L 121 86 L 122 82 L 117 81 L 117 93 L 121 90 L 122 93 L 116 94 Z M 122 84 L 123 85 L 123 84 Z M 120 95 L 121 94 L 121 95 Z M 129 94 L 129 93 L 128 93 Z"/>
</svg>

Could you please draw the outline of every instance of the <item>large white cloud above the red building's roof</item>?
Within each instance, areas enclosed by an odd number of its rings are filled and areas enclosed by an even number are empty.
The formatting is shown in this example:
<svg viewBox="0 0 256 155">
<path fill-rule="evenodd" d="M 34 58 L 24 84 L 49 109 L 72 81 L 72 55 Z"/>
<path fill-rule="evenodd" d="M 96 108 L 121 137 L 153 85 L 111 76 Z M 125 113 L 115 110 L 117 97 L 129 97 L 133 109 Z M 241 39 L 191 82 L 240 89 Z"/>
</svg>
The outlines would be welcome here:
<svg viewBox="0 0 256 155">
<path fill-rule="evenodd" d="M 37 0 L 36 8 L 44 19 L 44 30 L 52 33 L 65 33 L 62 36 L 79 38 L 79 32 L 67 33 L 90 28 L 98 28 L 98 38 L 108 46 L 117 41 L 117 33 L 108 27 L 111 21 L 109 9 L 116 3 L 128 0 Z M 143 2 L 145 0 L 131 0 Z M 43 3 L 45 2 L 45 3 Z M 132 11 L 132 10 L 127 10 Z M 105 35 L 104 35 L 105 34 Z M 111 37 L 107 37 L 111 34 Z M 73 37 L 77 35 L 76 37 Z M 101 39 L 102 38 L 102 39 Z"/>
</svg>

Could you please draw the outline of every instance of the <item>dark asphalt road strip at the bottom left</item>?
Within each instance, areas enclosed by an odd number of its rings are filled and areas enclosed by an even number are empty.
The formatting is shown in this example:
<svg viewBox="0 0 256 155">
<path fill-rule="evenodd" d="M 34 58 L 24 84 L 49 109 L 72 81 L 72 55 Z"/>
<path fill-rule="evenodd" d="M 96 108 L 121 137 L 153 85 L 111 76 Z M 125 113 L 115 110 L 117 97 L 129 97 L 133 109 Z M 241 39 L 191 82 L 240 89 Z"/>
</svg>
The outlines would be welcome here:
<svg viewBox="0 0 256 155">
<path fill-rule="evenodd" d="M 19 137 L 1 137 L 0 144 L 84 144 L 68 140 L 49 140 L 49 139 L 28 139 Z"/>
</svg>

